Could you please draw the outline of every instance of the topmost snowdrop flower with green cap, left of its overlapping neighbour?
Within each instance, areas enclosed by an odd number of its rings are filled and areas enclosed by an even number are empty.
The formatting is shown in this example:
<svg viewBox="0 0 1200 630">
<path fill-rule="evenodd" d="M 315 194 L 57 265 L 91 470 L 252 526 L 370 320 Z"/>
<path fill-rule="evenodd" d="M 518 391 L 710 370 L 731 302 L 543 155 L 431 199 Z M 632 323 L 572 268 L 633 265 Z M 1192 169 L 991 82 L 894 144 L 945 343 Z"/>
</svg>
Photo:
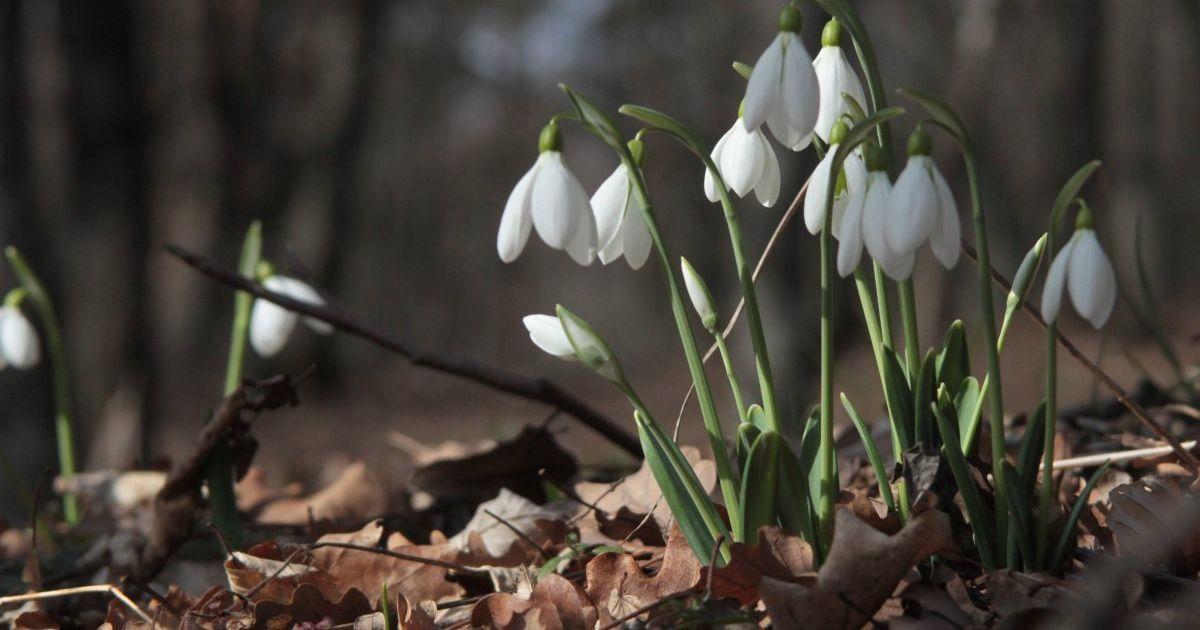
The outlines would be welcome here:
<svg viewBox="0 0 1200 630">
<path fill-rule="evenodd" d="M 821 108 L 812 58 L 800 41 L 800 11 L 785 6 L 779 14 L 779 35 L 755 62 L 746 84 L 745 131 L 763 122 L 775 138 L 793 151 L 812 142 Z"/>
</svg>

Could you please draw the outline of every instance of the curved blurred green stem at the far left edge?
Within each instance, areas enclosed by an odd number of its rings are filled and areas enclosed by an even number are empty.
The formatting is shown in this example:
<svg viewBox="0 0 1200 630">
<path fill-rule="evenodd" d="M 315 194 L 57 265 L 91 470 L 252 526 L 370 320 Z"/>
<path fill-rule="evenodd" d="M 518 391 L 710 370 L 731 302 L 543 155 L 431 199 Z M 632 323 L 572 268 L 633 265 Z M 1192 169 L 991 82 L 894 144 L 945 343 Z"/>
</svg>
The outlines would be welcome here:
<svg viewBox="0 0 1200 630">
<path fill-rule="evenodd" d="M 25 258 L 16 247 L 8 246 L 5 250 L 8 257 L 8 265 L 13 274 L 25 288 L 26 298 L 32 302 L 42 320 L 42 331 L 46 335 L 46 348 L 50 356 L 50 371 L 54 389 L 54 433 L 59 449 L 59 473 L 62 476 L 76 474 L 74 458 L 74 430 L 71 422 L 71 380 L 67 370 L 66 348 L 62 346 L 62 332 L 59 330 L 59 318 L 54 312 L 54 302 L 46 292 L 46 287 L 37 278 L 34 271 L 25 263 Z M 72 493 L 62 496 L 62 517 L 67 524 L 79 523 L 79 504 Z"/>
</svg>

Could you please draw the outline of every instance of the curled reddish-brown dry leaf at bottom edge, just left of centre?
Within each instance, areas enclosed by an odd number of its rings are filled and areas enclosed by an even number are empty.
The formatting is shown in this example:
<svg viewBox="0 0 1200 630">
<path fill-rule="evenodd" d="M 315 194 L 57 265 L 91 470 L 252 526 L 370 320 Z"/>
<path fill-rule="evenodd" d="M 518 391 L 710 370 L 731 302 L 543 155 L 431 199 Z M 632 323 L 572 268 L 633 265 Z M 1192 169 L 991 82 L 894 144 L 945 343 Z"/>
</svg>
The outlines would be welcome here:
<svg viewBox="0 0 1200 630">
<path fill-rule="evenodd" d="M 528 598 L 497 593 L 481 599 L 470 613 L 474 628 L 587 630 L 596 626 L 596 610 L 577 586 L 558 575 L 542 577 Z"/>
</svg>

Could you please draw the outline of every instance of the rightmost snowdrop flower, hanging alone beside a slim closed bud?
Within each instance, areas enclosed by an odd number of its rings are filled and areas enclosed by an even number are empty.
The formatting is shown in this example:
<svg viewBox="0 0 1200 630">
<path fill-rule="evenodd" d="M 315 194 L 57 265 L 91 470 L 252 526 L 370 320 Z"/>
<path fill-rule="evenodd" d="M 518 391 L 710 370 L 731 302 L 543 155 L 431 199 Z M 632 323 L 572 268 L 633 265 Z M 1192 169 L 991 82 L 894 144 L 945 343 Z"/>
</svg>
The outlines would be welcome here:
<svg viewBox="0 0 1200 630">
<path fill-rule="evenodd" d="M 1075 311 L 1099 330 L 1112 313 L 1117 299 L 1117 281 L 1112 264 L 1104 254 L 1093 229 L 1092 210 L 1082 208 L 1075 215 L 1075 234 L 1058 250 L 1046 274 L 1042 290 L 1042 316 L 1054 323 L 1062 306 L 1063 288 L 1069 290 Z"/>
</svg>

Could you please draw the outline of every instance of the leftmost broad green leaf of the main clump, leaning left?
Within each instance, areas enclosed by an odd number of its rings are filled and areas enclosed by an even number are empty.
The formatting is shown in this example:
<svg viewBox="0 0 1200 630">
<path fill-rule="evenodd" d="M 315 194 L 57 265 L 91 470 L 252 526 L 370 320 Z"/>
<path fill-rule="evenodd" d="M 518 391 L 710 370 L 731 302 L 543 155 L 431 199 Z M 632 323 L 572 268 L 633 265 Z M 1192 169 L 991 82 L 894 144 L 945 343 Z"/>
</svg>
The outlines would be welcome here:
<svg viewBox="0 0 1200 630">
<path fill-rule="evenodd" d="M 679 523 L 688 544 L 701 563 L 712 557 L 718 536 L 727 534 L 713 502 L 708 498 L 696 473 L 658 424 L 641 412 L 635 412 L 637 437 L 642 443 L 646 463 L 654 480 L 662 490 L 662 498 L 671 508 L 671 515 Z M 728 548 L 722 545 L 721 556 L 728 560 Z"/>
</svg>

